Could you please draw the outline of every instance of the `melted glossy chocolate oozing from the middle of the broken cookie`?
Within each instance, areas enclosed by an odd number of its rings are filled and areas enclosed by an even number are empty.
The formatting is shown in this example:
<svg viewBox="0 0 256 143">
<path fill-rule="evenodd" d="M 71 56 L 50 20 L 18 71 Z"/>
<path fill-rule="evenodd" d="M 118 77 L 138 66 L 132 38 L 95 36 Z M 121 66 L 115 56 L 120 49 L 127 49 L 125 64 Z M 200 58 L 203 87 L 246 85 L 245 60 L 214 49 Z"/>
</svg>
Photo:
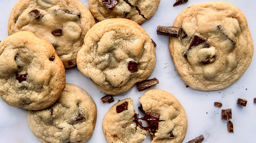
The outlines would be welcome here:
<svg viewBox="0 0 256 143">
<path fill-rule="evenodd" d="M 147 123 L 148 123 L 148 126 L 143 127 L 139 123 L 138 118 L 137 118 L 137 114 L 135 113 L 133 121 L 135 121 L 137 126 L 139 126 L 141 129 L 149 131 L 149 132 L 155 134 L 157 132 L 157 130 L 158 130 L 158 124 L 160 122 L 159 118 L 160 118 L 160 116 L 157 115 L 157 114 L 146 113 L 144 117 L 139 118 L 141 120 L 147 121 Z"/>
</svg>

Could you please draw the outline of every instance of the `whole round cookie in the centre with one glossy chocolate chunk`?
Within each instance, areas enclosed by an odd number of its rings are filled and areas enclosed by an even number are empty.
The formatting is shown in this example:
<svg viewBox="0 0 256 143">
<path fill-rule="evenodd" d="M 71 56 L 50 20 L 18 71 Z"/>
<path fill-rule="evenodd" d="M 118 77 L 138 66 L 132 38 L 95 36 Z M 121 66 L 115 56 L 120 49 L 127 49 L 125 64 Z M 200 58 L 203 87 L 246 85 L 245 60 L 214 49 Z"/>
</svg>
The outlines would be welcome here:
<svg viewBox="0 0 256 143">
<path fill-rule="evenodd" d="M 115 95 L 150 76 L 156 51 L 139 24 L 122 18 L 106 19 L 87 32 L 76 60 L 84 76 L 101 91 Z"/>
</svg>

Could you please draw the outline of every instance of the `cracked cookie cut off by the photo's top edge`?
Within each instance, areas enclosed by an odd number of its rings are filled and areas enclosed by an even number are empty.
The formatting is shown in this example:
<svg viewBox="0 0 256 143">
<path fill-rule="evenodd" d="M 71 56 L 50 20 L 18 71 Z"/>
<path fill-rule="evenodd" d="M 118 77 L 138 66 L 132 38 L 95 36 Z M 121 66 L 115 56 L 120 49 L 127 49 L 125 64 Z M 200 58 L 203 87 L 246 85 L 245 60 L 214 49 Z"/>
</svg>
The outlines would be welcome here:
<svg viewBox="0 0 256 143">
<path fill-rule="evenodd" d="M 89 0 L 89 7 L 98 21 L 127 18 L 142 24 L 153 16 L 159 3 L 160 0 Z"/>
</svg>

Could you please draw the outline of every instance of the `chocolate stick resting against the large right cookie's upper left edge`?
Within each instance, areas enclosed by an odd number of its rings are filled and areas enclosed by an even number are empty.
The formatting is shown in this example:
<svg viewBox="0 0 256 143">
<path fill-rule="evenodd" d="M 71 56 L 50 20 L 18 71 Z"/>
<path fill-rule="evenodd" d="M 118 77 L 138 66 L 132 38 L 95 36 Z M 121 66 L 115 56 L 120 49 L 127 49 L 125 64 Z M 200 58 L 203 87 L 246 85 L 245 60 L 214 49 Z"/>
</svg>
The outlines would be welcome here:
<svg viewBox="0 0 256 143">
<path fill-rule="evenodd" d="M 182 27 L 160 26 L 157 27 L 157 34 L 179 38 Z"/>
</svg>

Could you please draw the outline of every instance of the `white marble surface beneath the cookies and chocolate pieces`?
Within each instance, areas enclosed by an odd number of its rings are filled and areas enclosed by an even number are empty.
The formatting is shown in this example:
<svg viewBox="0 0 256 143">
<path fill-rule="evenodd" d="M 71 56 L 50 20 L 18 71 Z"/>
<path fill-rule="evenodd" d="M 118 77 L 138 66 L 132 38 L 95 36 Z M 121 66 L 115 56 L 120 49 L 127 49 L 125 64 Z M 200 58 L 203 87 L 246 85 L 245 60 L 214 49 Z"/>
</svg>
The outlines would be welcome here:
<svg viewBox="0 0 256 143">
<path fill-rule="evenodd" d="M 80 0 L 88 7 L 88 0 Z M 8 36 L 7 24 L 12 7 L 17 0 L 0 0 L 0 40 Z M 157 43 L 157 63 L 155 71 L 149 78 L 156 77 L 160 83 L 153 88 L 160 88 L 172 93 L 183 105 L 187 119 L 188 129 L 184 143 L 199 136 L 204 135 L 203 142 L 209 143 L 255 143 L 256 133 L 256 97 L 255 91 L 255 70 L 256 59 L 252 59 L 251 65 L 245 74 L 234 84 L 217 91 L 200 91 L 186 88 L 172 62 L 168 50 L 168 37 L 157 35 L 158 25 L 171 26 L 176 16 L 186 7 L 192 4 L 211 2 L 211 0 L 189 0 L 186 4 L 173 7 L 175 0 L 161 0 L 155 15 L 141 24 L 150 37 Z M 252 34 L 252 39 L 256 43 L 256 1 L 252 0 L 225 0 L 240 8 L 247 17 L 248 25 Z M 85 89 L 95 100 L 97 105 L 97 121 L 94 134 L 88 143 L 106 143 L 101 125 L 102 119 L 108 109 L 118 100 L 132 98 L 135 110 L 138 113 L 138 98 L 145 91 L 139 92 L 136 87 L 129 91 L 114 96 L 114 103 L 101 103 L 100 98 L 105 93 L 100 92 L 89 78 L 84 77 L 77 67 L 66 69 L 66 82 L 72 83 Z M 246 90 L 247 88 L 247 90 Z M 237 98 L 248 100 L 247 106 L 236 104 Z M 223 103 L 223 107 L 218 108 L 214 102 Z M 227 131 L 227 121 L 221 120 L 221 110 L 232 109 L 234 134 Z M 0 142 L 1 143 L 37 143 L 39 142 L 30 131 L 27 125 L 27 110 L 15 108 L 7 105 L 0 99 Z M 149 135 L 143 143 L 149 143 Z"/>
</svg>

